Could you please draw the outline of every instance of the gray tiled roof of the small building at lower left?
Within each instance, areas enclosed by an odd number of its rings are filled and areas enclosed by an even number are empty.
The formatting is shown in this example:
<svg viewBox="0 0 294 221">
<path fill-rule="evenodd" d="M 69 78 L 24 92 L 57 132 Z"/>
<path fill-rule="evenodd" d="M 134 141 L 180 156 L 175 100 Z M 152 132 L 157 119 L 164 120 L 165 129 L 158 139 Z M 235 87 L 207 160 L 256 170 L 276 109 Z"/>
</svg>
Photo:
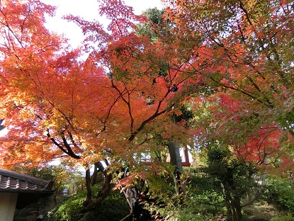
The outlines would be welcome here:
<svg viewBox="0 0 294 221">
<path fill-rule="evenodd" d="M 52 181 L 0 169 L 0 192 L 48 193 L 53 191 L 52 186 Z"/>
</svg>

